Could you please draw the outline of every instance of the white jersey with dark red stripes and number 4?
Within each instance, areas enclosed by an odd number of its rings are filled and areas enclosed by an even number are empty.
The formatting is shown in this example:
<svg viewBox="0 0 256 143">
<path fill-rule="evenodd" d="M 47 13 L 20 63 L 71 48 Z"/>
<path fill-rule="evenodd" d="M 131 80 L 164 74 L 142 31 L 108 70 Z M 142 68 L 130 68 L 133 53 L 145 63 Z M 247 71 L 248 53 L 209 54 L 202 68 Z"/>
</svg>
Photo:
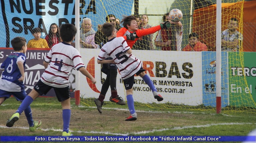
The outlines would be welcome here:
<svg viewBox="0 0 256 143">
<path fill-rule="evenodd" d="M 57 88 L 69 85 L 68 77 L 73 67 L 76 70 L 85 67 L 77 49 L 65 42 L 52 46 L 44 61 L 49 65 L 40 79 L 44 84 Z"/>
</svg>

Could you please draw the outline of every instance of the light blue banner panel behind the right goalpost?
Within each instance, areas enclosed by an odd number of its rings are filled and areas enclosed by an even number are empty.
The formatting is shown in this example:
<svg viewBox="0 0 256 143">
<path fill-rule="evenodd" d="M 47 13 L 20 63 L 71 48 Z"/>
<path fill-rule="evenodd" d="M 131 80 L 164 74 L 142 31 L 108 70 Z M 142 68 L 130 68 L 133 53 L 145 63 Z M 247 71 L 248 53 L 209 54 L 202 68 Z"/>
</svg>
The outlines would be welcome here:
<svg viewBox="0 0 256 143">
<path fill-rule="evenodd" d="M 221 52 L 221 107 L 229 105 L 228 52 Z M 216 52 L 202 51 L 203 104 L 216 107 Z"/>
</svg>

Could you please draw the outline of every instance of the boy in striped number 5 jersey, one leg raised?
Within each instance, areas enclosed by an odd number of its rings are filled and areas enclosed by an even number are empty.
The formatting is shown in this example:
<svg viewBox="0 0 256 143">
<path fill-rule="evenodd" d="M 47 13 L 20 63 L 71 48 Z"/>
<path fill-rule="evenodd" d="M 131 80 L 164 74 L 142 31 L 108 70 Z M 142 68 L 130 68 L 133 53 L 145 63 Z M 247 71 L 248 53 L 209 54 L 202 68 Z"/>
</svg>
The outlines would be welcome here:
<svg viewBox="0 0 256 143">
<path fill-rule="evenodd" d="M 162 101 L 163 97 L 157 93 L 157 90 L 150 80 L 150 78 L 144 72 L 145 69 L 142 68 L 141 60 L 137 59 L 132 54 L 132 49 L 127 44 L 123 37 L 116 37 L 116 30 L 113 24 L 104 23 L 102 25 L 101 31 L 108 40 L 105 43 L 98 55 L 97 63 L 115 63 L 119 72 L 122 76 L 123 84 L 126 90 L 127 105 L 130 110 L 130 116 L 125 119 L 125 121 L 137 120 L 137 113 L 135 112 L 134 100 L 133 100 L 133 84 L 134 75 L 139 75 L 142 79 L 149 85 L 153 92 L 153 96 L 157 101 Z M 131 34 L 136 36 L 135 33 Z M 127 37 L 131 37 L 128 35 Z M 134 38 L 131 38 L 134 39 Z M 111 57 L 111 60 L 106 58 Z M 146 78 L 145 78 L 146 77 Z"/>
</svg>

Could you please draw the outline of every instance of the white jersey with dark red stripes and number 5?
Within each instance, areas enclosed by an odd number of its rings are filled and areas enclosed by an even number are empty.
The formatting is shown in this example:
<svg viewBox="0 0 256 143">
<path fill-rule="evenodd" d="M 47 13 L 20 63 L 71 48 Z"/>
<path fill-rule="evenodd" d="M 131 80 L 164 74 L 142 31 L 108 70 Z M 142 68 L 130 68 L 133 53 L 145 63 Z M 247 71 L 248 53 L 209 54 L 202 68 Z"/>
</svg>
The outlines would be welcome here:
<svg viewBox="0 0 256 143">
<path fill-rule="evenodd" d="M 122 79 L 134 76 L 141 68 L 142 62 L 134 55 L 127 53 L 130 46 L 123 37 L 116 37 L 105 43 L 98 55 L 98 60 L 104 60 L 107 57 L 114 59 Z"/>
</svg>

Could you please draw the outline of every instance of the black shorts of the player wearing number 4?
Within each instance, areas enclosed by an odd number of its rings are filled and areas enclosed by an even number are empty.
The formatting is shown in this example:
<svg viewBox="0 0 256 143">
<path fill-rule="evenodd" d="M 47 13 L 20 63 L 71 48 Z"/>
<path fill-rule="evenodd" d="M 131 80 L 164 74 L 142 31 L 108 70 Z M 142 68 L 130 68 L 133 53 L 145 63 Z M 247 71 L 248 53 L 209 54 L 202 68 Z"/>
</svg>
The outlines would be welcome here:
<svg viewBox="0 0 256 143">
<path fill-rule="evenodd" d="M 46 95 L 49 92 L 49 90 L 52 88 L 54 89 L 54 92 L 59 102 L 70 98 L 69 86 L 64 88 L 56 88 L 56 87 L 52 87 L 44 84 L 41 80 L 39 80 L 37 84 L 34 86 L 34 90 L 38 92 L 40 95 L 43 95 L 43 94 Z"/>
</svg>

